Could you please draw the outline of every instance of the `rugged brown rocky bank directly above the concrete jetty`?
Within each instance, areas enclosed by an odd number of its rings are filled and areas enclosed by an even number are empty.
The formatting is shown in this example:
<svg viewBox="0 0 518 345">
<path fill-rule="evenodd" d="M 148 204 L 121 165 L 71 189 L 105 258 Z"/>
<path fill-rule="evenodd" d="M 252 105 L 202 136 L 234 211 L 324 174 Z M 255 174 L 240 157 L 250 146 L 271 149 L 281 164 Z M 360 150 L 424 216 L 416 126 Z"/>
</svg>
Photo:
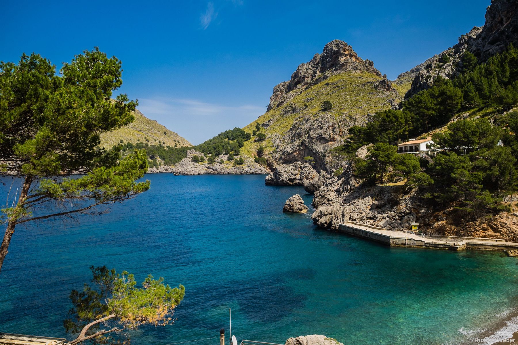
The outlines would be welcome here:
<svg viewBox="0 0 518 345">
<path fill-rule="evenodd" d="M 367 147 L 356 152 L 365 158 Z M 518 213 L 502 212 L 491 219 L 459 223 L 454 205 L 437 208 L 419 189 L 406 186 L 366 186 L 357 181 L 353 166 L 314 193 L 311 218 L 321 227 L 337 230 L 340 223 L 356 221 L 386 230 L 408 230 L 413 222 L 430 234 L 502 238 L 518 241 Z"/>
</svg>

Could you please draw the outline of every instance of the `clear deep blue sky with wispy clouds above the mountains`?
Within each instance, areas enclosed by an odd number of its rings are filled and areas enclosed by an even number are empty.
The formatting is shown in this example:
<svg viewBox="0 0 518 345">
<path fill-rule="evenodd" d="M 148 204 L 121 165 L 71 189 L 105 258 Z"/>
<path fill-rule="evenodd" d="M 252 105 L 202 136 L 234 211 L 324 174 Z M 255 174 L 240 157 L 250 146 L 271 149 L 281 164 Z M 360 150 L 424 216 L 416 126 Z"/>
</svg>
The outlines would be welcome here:
<svg viewBox="0 0 518 345">
<path fill-rule="evenodd" d="M 484 24 L 490 0 L 41 2 L 4 0 L 0 59 L 59 68 L 98 46 L 123 64 L 120 92 L 198 144 L 266 111 L 272 88 L 341 39 L 395 79 Z"/>
</svg>

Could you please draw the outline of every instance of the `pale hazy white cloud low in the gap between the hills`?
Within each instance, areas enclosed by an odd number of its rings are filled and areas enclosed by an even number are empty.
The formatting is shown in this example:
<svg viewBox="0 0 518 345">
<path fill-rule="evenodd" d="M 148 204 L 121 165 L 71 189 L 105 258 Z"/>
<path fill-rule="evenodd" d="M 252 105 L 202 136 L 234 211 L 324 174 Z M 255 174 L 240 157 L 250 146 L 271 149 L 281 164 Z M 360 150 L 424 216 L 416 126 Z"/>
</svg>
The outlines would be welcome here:
<svg viewBox="0 0 518 345">
<path fill-rule="evenodd" d="M 167 97 L 139 99 L 138 109 L 193 144 L 202 143 L 227 129 L 246 126 L 266 111 L 265 107 L 253 104 L 229 106 Z"/>
</svg>

